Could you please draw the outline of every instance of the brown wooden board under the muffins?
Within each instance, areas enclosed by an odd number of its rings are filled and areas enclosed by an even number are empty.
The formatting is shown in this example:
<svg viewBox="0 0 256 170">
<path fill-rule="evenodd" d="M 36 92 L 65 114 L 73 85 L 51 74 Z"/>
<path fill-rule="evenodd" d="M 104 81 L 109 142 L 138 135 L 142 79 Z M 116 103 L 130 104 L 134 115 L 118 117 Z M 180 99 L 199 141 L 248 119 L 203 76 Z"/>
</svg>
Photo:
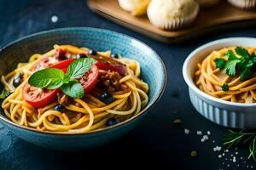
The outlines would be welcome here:
<svg viewBox="0 0 256 170">
<path fill-rule="evenodd" d="M 88 0 L 88 5 L 97 14 L 160 42 L 183 42 L 213 31 L 255 26 L 256 24 L 255 10 L 241 10 L 232 7 L 224 0 L 221 0 L 221 3 L 215 7 L 201 8 L 193 26 L 178 31 L 160 30 L 150 24 L 146 15 L 132 16 L 119 7 L 118 0 Z"/>
</svg>

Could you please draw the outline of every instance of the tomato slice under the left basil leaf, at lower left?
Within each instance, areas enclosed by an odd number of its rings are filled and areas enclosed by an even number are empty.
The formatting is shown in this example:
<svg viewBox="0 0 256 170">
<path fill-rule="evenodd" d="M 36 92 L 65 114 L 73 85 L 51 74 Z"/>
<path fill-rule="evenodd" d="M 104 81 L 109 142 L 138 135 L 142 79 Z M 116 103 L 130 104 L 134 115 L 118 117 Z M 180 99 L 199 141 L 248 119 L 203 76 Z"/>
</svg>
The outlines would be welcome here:
<svg viewBox="0 0 256 170">
<path fill-rule="evenodd" d="M 48 90 L 36 88 L 26 82 L 22 90 L 22 96 L 28 104 L 38 108 L 44 107 L 55 100 L 58 92 L 60 92 L 60 89 Z"/>
</svg>

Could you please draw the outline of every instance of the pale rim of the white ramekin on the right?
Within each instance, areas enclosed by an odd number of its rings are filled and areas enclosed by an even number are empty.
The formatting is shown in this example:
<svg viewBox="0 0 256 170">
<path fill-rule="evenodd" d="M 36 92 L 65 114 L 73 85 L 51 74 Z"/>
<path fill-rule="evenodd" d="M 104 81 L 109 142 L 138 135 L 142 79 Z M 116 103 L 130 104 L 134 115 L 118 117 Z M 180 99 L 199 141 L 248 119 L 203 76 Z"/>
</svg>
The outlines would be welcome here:
<svg viewBox="0 0 256 170">
<path fill-rule="evenodd" d="M 218 99 L 218 98 L 215 98 L 215 97 L 213 97 L 209 94 L 206 94 L 195 86 L 195 82 L 193 82 L 192 78 L 188 74 L 188 72 L 189 72 L 189 63 L 192 59 L 195 59 L 197 57 L 196 54 L 205 50 L 205 48 L 212 47 L 212 46 L 217 45 L 219 43 L 233 42 L 233 41 L 255 41 L 256 42 L 256 38 L 254 38 L 254 37 L 228 37 L 228 38 L 218 39 L 218 40 L 215 40 L 215 41 L 212 41 L 212 42 L 207 42 L 206 44 L 201 45 L 198 48 L 195 48 L 195 50 L 193 50 L 189 54 L 189 56 L 187 57 L 187 59 L 185 59 L 185 61 L 183 63 L 183 79 L 187 83 L 189 88 L 191 88 L 196 94 L 199 94 L 204 99 L 207 99 L 209 101 L 214 102 L 216 105 L 227 105 L 227 106 L 236 107 L 236 108 L 255 107 L 256 103 L 254 103 L 254 104 L 234 103 L 234 102 L 226 101 L 226 100 L 223 100 L 223 99 Z"/>
</svg>

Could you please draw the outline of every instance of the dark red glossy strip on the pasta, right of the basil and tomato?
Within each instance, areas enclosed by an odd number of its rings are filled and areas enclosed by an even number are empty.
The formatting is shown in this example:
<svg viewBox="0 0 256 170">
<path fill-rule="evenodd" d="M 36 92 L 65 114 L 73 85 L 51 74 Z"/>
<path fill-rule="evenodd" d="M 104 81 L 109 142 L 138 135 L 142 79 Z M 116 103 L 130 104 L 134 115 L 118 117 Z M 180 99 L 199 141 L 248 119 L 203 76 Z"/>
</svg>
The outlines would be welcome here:
<svg viewBox="0 0 256 170">
<path fill-rule="evenodd" d="M 96 63 L 96 65 L 99 69 L 102 69 L 102 70 L 105 70 L 105 71 L 108 71 L 108 70 L 117 71 L 121 75 L 125 75 L 128 72 L 125 65 L 111 65 L 111 64 L 108 64 L 108 63 L 104 63 L 103 61 L 98 61 Z"/>
</svg>

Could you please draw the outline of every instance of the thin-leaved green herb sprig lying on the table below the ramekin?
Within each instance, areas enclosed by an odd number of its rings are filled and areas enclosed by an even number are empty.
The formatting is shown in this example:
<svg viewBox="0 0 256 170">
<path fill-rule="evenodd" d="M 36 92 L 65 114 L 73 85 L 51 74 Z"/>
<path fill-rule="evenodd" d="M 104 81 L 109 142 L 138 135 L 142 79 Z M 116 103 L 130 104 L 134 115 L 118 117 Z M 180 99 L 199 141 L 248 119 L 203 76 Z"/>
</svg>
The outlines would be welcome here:
<svg viewBox="0 0 256 170">
<path fill-rule="evenodd" d="M 223 145 L 227 149 L 240 144 L 249 146 L 248 159 L 256 161 L 256 133 L 246 132 L 245 130 L 241 130 L 240 132 L 229 130 L 228 133 L 224 135 Z"/>
</svg>

